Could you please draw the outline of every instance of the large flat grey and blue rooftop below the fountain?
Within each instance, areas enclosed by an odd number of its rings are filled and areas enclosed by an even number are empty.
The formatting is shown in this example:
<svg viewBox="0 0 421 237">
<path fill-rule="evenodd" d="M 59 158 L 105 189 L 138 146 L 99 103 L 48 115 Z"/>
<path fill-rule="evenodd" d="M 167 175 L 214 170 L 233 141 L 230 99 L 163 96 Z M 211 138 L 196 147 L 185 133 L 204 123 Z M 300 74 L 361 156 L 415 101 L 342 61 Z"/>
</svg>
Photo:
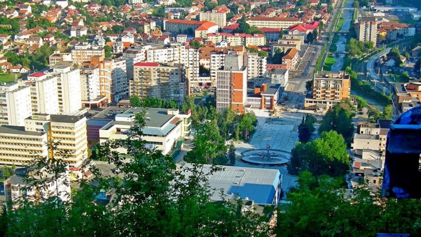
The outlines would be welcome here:
<svg viewBox="0 0 421 237">
<path fill-rule="evenodd" d="M 181 167 L 192 167 L 186 163 Z M 203 172 L 211 171 L 211 165 L 205 165 Z M 223 189 L 226 199 L 253 200 L 258 204 L 271 204 L 275 197 L 275 190 L 280 182 L 280 173 L 276 169 L 261 169 L 234 166 L 219 166 L 222 171 L 217 171 L 209 176 L 209 185 L 216 191 L 211 196 L 211 200 L 221 200 L 219 190 Z M 180 169 L 180 166 L 178 167 Z M 188 178 L 192 175 L 189 171 L 184 171 Z"/>
</svg>

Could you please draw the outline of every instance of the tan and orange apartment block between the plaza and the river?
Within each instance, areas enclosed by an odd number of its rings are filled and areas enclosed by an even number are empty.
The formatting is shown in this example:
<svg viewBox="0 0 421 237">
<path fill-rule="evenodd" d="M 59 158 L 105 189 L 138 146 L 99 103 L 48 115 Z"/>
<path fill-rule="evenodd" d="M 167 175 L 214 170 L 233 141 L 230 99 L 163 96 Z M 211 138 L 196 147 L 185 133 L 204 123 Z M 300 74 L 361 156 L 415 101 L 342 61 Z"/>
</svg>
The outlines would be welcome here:
<svg viewBox="0 0 421 237">
<path fill-rule="evenodd" d="M 351 94 L 351 82 L 345 71 L 317 72 L 313 79 L 313 93 L 304 99 L 304 107 L 312 110 L 328 110 L 335 103 Z"/>
</svg>

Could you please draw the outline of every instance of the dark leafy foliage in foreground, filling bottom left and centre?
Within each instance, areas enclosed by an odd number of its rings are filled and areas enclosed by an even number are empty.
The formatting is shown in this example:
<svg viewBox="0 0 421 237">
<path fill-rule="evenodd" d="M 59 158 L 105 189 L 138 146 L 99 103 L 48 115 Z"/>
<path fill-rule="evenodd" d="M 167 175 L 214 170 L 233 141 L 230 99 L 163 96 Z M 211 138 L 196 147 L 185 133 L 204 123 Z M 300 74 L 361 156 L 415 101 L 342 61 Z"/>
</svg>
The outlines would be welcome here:
<svg viewBox="0 0 421 237">
<path fill-rule="evenodd" d="M 210 201 L 211 194 L 219 190 L 210 188 L 207 177 L 220 167 L 213 167 L 210 174 L 205 174 L 203 165 L 199 164 L 180 169 L 170 156 L 146 148 L 141 139 L 143 116 L 136 116 L 137 124 L 131 129 L 129 139 L 101 146 L 99 155 L 116 166 L 112 176 L 105 177 L 98 169 L 92 169 L 95 180 L 80 182 L 77 193 L 72 192 L 72 201 L 62 201 L 55 195 L 43 201 L 22 200 L 20 208 L 9 207 L 3 212 L 0 236 L 260 237 L 271 234 L 266 220 L 245 208 L 241 200 Z M 127 155 L 119 154 L 116 147 L 126 148 Z M 54 151 L 53 146 L 51 149 Z M 47 167 L 53 174 L 62 173 L 61 167 L 66 165 L 61 159 L 51 161 L 44 157 L 37 162 L 50 164 Z M 117 175 L 122 177 L 122 182 Z M 37 185 L 41 188 L 46 184 L 41 180 Z M 95 197 L 104 190 L 114 193 L 113 205 L 98 204 Z"/>
</svg>

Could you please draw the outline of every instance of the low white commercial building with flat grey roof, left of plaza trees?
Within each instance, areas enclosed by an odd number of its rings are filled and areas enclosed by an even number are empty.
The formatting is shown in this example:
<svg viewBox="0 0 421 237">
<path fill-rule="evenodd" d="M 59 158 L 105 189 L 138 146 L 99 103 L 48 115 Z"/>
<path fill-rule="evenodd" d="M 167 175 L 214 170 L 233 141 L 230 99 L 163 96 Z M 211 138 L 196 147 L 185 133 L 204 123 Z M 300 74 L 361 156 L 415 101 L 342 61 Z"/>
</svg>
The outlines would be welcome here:
<svg viewBox="0 0 421 237">
<path fill-rule="evenodd" d="M 178 109 L 126 108 L 123 112 L 113 112 L 113 108 L 109 107 L 96 115 L 97 119 L 113 117 L 99 130 L 101 144 L 108 140 L 127 139 L 129 130 L 135 123 L 135 115 L 143 111 L 146 124 L 142 129 L 142 139 L 146 141 L 147 147 L 161 150 L 164 155 L 172 154 L 180 149 L 184 139 L 191 134 L 190 111 L 181 113 Z M 123 147 L 117 150 L 127 152 Z"/>
</svg>

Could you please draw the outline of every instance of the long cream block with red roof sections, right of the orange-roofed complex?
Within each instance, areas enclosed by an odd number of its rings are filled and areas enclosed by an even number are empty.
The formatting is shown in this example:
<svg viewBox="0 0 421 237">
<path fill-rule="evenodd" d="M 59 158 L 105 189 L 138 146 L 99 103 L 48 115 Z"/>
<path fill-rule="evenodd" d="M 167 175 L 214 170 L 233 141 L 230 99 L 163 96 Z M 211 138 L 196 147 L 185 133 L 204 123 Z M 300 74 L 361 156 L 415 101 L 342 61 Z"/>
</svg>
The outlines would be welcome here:
<svg viewBox="0 0 421 237">
<path fill-rule="evenodd" d="M 244 33 L 211 33 L 208 34 L 208 40 L 214 44 L 225 41 L 230 46 L 264 46 L 266 38 L 262 34 L 244 34 Z"/>
</svg>

